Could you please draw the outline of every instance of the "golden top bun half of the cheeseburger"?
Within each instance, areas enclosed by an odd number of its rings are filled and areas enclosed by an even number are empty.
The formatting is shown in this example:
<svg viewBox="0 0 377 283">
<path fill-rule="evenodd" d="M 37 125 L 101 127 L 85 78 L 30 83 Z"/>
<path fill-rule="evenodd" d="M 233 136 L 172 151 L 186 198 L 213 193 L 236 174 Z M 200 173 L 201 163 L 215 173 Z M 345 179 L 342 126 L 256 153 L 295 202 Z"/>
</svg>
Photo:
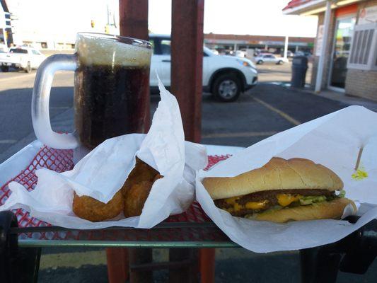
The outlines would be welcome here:
<svg viewBox="0 0 377 283">
<path fill-rule="evenodd" d="M 236 177 L 204 178 L 213 200 L 265 190 L 342 190 L 343 182 L 329 168 L 304 158 L 273 157 L 265 166 Z"/>
</svg>

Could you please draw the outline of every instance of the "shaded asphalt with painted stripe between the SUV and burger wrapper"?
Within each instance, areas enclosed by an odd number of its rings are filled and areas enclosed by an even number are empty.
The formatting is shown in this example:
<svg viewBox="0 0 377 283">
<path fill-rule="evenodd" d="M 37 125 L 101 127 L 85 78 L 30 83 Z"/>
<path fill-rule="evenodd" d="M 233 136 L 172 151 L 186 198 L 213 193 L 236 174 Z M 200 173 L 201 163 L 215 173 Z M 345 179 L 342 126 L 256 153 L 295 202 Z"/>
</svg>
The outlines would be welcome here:
<svg viewBox="0 0 377 283">
<path fill-rule="evenodd" d="M 258 84 L 235 103 L 218 103 L 206 96 L 202 143 L 250 146 L 347 106 L 337 100 L 269 83 Z"/>
</svg>

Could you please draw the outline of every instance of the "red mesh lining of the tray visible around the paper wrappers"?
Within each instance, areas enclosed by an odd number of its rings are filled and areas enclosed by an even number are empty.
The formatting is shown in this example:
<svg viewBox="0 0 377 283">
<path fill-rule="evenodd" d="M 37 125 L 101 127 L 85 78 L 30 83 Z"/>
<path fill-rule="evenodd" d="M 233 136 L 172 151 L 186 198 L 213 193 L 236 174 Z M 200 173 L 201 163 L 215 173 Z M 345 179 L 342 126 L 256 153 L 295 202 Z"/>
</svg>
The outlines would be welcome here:
<svg viewBox="0 0 377 283">
<path fill-rule="evenodd" d="M 228 157 L 229 155 L 209 156 L 209 164 L 206 169 Z M 8 189 L 8 183 L 11 181 L 21 183 L 29 191 L 33 190 L 37 183 L 35 170 L 48 168 L 57 172 L 69 171 L 74 166 L 72 158 L 72 150 L 42 147 L 25 170 L 0 188 L 0 204 L 4 204 L 11 193 Z M 100 230 L 64 229 L 35 219 L 23 209 L 15 209 L 13 212 L 17 216 L 19 228 L 12 229 L 12 233 L 18 233 L 21 240 L 228 241 L 228 238 L 214 226 L 197 202 L 193 202 L 185 213 L 170 216 L 153 229 L 120 227 Z"/>
</svg>

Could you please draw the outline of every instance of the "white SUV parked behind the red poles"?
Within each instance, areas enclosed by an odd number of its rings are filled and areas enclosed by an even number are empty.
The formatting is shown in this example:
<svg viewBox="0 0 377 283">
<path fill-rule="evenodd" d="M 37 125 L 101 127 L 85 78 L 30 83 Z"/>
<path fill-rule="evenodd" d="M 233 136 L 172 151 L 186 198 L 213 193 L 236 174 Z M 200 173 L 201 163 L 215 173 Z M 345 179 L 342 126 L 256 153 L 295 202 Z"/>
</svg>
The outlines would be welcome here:
<svg viewBox="0 0 377 283">
<path fill-rule="evenodd" d="M 170 86 L 170 36 L 149 35 L 153 45 L 151 91 L 158 88 L 156 71 L 165 86 Z M 257 84 L 257 69 L 246 58 L 216 55 L 204 47 L 203 90 L 224 102 L 234 101 L 243 91 Z"/>
</svg>

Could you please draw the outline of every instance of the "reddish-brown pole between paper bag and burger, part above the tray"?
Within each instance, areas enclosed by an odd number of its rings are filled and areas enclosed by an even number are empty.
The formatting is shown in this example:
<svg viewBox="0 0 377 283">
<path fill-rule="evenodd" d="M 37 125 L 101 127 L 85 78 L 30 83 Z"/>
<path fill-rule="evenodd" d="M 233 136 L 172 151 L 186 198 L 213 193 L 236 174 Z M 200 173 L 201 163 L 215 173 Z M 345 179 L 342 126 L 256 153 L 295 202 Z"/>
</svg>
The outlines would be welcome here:
<svg viewBox="0 0 377 283">
<path fill-rule="evenodd" d="M 185 138 L 195 142 L 202 131 L 203 17 L 204 0 L 172 1 L 171 90 Z"/>
</svg>

